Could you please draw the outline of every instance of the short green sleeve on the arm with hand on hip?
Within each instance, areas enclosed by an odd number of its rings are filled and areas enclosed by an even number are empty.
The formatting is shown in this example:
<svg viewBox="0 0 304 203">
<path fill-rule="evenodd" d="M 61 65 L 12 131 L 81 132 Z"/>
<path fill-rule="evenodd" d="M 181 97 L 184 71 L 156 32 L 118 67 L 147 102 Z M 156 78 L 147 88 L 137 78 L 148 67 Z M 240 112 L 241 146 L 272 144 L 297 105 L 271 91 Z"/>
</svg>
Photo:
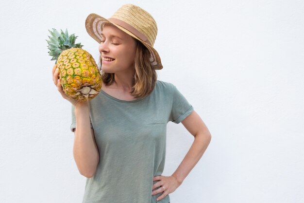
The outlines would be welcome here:
<svg viewBox="0 0 304 203">
<path fill-rule="evenodd" d="M 176 124 L 182 122 L 193 111 L 192 105 L 173 85 L 173 99 L 170 120 Z"/>
</svg>

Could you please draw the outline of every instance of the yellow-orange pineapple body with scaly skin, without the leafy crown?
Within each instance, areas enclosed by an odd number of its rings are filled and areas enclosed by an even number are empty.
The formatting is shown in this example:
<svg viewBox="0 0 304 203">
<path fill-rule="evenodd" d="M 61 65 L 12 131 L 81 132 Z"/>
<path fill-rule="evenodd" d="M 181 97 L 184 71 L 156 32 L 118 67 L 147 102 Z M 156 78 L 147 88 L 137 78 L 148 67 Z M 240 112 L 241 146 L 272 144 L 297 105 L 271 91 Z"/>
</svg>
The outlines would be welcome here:
<svg viewBox="0 0 304 203">
<path fill-rule="evenodd" d="M 57 59 L 63 91 L 77 101 L 93 99 L 101 91 L 101 74 L 87 51 L 81 48 L 64 50 Z"/>
</svg>

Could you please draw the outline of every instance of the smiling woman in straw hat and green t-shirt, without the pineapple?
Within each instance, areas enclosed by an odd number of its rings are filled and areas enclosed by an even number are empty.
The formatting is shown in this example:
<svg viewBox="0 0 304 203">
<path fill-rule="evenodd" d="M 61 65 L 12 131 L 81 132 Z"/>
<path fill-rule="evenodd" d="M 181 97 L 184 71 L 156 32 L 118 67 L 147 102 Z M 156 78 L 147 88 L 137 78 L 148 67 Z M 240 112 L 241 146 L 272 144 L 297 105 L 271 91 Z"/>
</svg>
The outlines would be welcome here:
<svg viewBox="0 0 304 203">
<path fill-rule="evenodd" d="M 87 177 L 83 202 L 169 203 L 168 194 L 209 145 L 210 132 L 174 85 L 156 79 L 163 66 L 153 48 L 156 22 L 147 11 L 125 4 L 109 19 L 90 14 L 85 26 L 100 43 L 98 96 L 68 98 L 53 68 L 58 91 L 72 104 L 73 155 Z M 176 171 L 162 176 L 169 121 L 182 122 L 195 138 Z"/>
</svg>

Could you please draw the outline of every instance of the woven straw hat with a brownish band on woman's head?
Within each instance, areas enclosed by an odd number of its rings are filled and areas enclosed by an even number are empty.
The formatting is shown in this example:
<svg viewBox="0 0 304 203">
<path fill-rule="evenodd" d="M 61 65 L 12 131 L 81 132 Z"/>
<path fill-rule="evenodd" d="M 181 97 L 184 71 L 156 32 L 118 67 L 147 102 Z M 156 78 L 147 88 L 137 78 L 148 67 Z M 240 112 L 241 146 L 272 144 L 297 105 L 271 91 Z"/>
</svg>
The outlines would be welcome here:
<svg viewBox="0 0 304 203">
<path fill-rule="evenodd" d="M 111 23 L 128 35 L 138 39 L 150 51 L 150 62 L 154 69 L 163 68 L 160 57 L 153 48 L 157 35 L 157 25 L 152 16 L 144 9 L 133 4 L 122 5 L 111 18 L 103 18 L 97 14 L 90 14 L 85 20 L 87 33 L 98 43 L 101 43 L 101 26 Z"/>
</svg>

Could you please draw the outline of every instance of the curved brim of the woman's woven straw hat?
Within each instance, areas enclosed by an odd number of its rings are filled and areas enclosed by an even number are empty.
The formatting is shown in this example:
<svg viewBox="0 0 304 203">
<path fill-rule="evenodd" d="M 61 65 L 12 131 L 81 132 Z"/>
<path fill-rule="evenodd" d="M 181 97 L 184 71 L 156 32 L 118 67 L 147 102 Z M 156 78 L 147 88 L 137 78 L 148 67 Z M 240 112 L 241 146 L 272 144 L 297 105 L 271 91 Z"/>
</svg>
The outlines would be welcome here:
<svg viewBox="0 0 304 203">
<path fill-rule="evenodd" d="M 116 26 L 118 29 L 122 30 L 123 32 L 127 33 L 128 35 L 134 37 L 135 39 L 139 40 L 145 47 L 148 48 L 151 57 L 150 57 L 150 62 L 152 67 L 154 67 L 155 70 L 161 70 L 163 68 L 163 65 L 161 63 L 160 57 L 157 53 L 157 51 L 148 43 L 144 42 L 137 36 L 135 36 L 132 32 L 129 30 L 109 21 L 106 18 L 103 18 L 97 14 L 90 14 L 88 17 L 85 19 L 85 29 L 86 32 L 93 38 L 95 39 L 98 43 L 101 43 L 101 27 L 104 23 L 110 23 L 114 26 Z"/>
</svg>

